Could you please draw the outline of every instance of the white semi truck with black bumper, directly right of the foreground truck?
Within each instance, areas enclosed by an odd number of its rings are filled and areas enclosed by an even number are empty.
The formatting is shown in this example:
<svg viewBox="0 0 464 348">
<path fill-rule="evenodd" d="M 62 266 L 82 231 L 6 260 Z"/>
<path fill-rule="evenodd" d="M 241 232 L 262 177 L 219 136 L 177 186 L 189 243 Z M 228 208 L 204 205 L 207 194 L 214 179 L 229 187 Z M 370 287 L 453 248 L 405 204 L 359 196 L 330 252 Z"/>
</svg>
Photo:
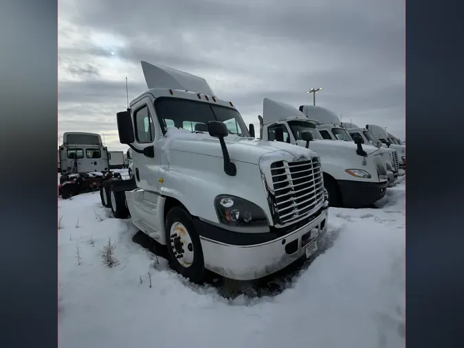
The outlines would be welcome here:
<svg viewBox="0 0 464 348">
<path fill-rule="evenodd" d="M 308 146 L 320 156 L 330 206 L 361 208 L 384 197 L 388 180 L 378 148 L 353 144 L 349 135 L 350 142 L 324 140 L 318 122 L 285 102 L 264 98 L 258 118 L 263 140 Z"/>
</svg>

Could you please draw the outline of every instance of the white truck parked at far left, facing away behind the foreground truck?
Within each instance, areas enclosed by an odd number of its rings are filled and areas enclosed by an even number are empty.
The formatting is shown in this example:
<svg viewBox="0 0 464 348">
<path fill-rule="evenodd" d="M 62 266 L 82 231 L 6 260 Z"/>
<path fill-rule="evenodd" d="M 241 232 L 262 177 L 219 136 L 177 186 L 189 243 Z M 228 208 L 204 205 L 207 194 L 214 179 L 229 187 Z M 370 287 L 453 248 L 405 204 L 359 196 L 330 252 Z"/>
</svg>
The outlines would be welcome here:
<svg viewBox="0 0 464 348">
<path fill-rule="evenodd" d="M 67 132 L 59 149 L 60 185 L 63 199 L 100 189 L 104 180 L 120 177 L 109 170 L 108 149 L 97 133 Z"/>
</svg>

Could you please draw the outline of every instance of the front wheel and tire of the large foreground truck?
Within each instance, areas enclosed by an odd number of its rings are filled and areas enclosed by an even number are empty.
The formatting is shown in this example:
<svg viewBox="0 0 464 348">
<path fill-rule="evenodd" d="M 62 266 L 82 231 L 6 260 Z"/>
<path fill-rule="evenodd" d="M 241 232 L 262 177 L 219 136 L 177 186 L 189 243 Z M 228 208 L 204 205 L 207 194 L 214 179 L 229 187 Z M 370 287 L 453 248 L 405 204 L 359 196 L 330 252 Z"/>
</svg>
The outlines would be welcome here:
<svg viewBox="0 0 464 348">
<path fill-rule="evenodd" d="M 190 214 L 184 208 L 175 206 L 166 216 L 164 230 L 170 267 L 193 283 L 202 283 L 205 261 L 200 238 Z"/>
</svg>

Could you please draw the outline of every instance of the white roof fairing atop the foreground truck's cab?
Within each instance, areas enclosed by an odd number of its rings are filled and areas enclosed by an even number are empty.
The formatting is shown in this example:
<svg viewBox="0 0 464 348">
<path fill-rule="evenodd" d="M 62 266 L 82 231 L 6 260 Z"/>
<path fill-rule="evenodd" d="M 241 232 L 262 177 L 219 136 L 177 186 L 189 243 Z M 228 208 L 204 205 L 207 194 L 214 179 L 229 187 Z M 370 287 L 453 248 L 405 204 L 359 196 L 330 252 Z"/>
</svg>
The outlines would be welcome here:
<svg viewBox="0 0 464 348">
<path fill-rule="evenodd" d="M 184 89 L 208 96 L 216 96 L 204 78 L 171 67 L 150 64 L 146 61 L 141 63 L 148 89 Z"/>
</svg>

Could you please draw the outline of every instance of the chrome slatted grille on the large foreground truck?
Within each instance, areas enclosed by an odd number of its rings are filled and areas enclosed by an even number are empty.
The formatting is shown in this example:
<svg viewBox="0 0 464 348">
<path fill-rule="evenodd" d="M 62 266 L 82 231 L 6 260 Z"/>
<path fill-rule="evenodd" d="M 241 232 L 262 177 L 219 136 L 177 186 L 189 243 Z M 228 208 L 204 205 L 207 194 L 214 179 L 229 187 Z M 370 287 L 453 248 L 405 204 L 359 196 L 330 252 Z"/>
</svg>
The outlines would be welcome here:
<svg viewBox="0 0 464 348">
<path fill-rule="evenodd" d="M 324 202 L 324 182 L 320 159 L 271 164 L 274 185 L 274 212 L 281 224 L 288 224 L 312 213 Z"/>
</svg>

